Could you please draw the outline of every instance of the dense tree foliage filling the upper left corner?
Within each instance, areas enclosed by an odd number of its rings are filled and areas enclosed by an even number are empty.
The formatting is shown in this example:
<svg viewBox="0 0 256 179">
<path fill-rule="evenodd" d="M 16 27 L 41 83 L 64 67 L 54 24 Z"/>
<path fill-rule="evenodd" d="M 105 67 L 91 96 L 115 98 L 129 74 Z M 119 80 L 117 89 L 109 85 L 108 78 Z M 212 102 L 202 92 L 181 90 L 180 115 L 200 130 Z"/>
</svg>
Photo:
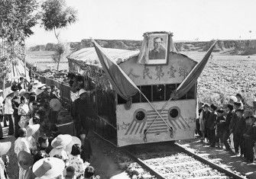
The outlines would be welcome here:
<svg viewBox="0 0 256 179">
<path fill-rule="evenodd" d="M 2 53 L 5 52 L 1 57 L 1 65 L 5 65 L 0 69 L 1 75 L 8 74 L 11 63 L 15 65 L 15 56 L 24 55 L 24 40 L 33 34 L 31 27 L 40 18 L 37 7 L 36 0 L 2 0 L 0 3 L 0 37 L 4 41 Z"/>
</svg>

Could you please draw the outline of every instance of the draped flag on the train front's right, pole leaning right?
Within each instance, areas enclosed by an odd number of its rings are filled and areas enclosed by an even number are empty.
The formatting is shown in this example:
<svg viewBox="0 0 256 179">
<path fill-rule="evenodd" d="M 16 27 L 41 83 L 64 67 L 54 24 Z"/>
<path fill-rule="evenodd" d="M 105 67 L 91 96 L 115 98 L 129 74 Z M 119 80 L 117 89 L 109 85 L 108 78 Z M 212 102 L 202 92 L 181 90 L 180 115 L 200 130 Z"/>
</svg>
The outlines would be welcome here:
<svg viewBox="0 0 256 179">
<path fill-rule="evenodd" d="M 216 43 L 217 41 L 215 41 Z M 206 63 L 208 62 L 208 59 L 212 53 L 212 50 L 214 49 L 215 43 L 212 44 L 212 46 L 209 48 L 206 55 L 203 57 L 201 62 L 197 63 L 196 66 L 191 70 L 189 75 L 186 76 L 186 78 L 183 80 L 183 82 L 179 85 L 179 87 L 174 91 L 174 97 L 173 98 L 180 98 L 183 97 L 188 91 L 190 91 L 190 88 L 195 85 L 197 78 L 199 78 L 199 75 L 203 72 L 203 69 L 206 66 Z"/>
</svg>

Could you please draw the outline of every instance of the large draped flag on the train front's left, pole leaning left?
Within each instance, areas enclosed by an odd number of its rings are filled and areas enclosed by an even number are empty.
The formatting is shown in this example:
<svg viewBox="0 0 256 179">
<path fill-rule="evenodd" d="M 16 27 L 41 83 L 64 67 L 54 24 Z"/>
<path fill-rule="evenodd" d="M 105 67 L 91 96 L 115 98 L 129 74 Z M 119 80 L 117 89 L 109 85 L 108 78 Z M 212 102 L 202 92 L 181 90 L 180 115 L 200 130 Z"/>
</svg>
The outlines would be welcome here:
<svg viewBox="0 0 256 179">
<path fill-rule="evenodd" d="M 131 97 L 137 94 L 140 90 L 120 66 L 106 55 L 102 47 L 99 46 L 95 40 L 92 40 L 92 43 L 95 47 L 99 62 L 102 64 L 105 75 L 109 78 L 109 82 L 123 99 L 130 101 Z"/>
</svg>

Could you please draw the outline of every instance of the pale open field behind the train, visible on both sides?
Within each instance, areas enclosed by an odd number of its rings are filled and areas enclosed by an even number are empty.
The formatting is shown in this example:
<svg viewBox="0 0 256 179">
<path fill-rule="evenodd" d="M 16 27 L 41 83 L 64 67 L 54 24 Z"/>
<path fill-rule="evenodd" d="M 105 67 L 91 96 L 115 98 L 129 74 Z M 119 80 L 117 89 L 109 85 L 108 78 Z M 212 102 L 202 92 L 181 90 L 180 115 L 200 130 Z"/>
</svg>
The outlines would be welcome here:
<svg viewBox="0 0 256 179">
<path fill-rule="evenodd" d="M 191 59 L 200 61 L 205 53 L 181 52 Z M 48 69 L 57 63 L 51 59 L 53 52 L 36 51 L 27 53 L 27 61 L 37 68 Z M 60 69 L 68 69 L 67 60 L 60 63 Z M 229 95 L 241 93 L 245 101 L 256 97 L 256 56 L 225 56 L 212 53 L 206 68 L 199 77 L 198 82 L 199 101 L 214 103 L 217 105 L 227 102 Z"/>
</svg>

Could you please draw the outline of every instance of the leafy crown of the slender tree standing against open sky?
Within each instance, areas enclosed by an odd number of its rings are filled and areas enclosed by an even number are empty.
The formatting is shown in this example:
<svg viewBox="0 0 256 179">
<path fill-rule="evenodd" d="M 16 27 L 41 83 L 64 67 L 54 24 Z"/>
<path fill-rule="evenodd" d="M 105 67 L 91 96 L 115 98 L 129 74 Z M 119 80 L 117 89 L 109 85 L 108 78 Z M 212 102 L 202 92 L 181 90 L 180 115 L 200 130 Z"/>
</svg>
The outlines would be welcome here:
<svg viewBox="0 0 256 179">
<path fill-rule="evenodd" d="M 42 9 L 42 25 L 45 30 L 54 30 L 57 40 L 60 36 L 60 33 L 56 32 L 57 29 L 76 22 L 76 10 L 67 7 L 65 0 L 47 0 Z"/>
</svg>

